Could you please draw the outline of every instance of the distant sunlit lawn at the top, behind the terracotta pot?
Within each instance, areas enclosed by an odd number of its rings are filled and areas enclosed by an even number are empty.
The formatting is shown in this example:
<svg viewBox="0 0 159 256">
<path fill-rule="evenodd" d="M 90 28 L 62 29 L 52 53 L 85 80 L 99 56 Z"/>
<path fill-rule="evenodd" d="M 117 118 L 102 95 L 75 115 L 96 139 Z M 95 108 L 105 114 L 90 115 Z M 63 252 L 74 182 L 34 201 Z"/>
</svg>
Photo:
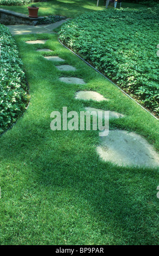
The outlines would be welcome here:
<svg viewBox="0 0 159 256">
<path fill-rule="evenodd" d="M 39 7 L 39 16 L 48 16 L 48 15 L 63 15 L 68 18 L 75 18 L 80 14 L 83 14 L 85 11 L 94 11 L 94 10 L 104 10 L 106 7 L 103 5 L 104 1 L 100 0 L 99 7 L 96 6 L 96 0 L 53 0 L 49 2 L 35 3 Z M 0 8 L 16 11 L 17 13 L 27 14 L 27 7 L 32 5 L 20 5 L 20 6 L 9 6 L 9 5 L 0 5 Z M 119 4 L 117 8 L 119 8 Z M 142 4 L 135 3 L 122 3 L 122 8 L 139 8 L 144 7 Z M 113 4 L 109 4 L 108 8 L 114 8 Z"/>
</svg>

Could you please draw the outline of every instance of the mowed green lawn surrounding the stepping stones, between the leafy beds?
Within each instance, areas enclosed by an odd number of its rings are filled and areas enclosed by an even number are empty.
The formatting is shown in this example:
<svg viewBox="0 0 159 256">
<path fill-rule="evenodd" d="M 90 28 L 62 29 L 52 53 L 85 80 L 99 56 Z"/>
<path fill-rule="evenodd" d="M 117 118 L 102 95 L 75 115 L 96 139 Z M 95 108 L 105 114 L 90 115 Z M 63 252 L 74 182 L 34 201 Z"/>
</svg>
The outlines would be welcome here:
<svg viewBox="0 0 159 256">
<path fill-rule="evenodd" d="M 55 34 L 15 36 L 30 88 L 30 105 L 0 138 L 1 245 L 157 245 L 158 170 L 118 167 L 96 154 L 98 131 L 52 131 L 52 111 L 84 111 L 91 106 L 125 114 L 110 129 L 143 135 L 158 148 L 158 122 L 112 83 L 87 66 Z M 45 45 L 27 40 L 48 39 Z M 61 72 L 44 59 L 50 48 Z M 66 84 L 61 76 L 86 84 Z M 95 90 L 107 102 L 74 99 L 78 90 Z"/>
</svg>

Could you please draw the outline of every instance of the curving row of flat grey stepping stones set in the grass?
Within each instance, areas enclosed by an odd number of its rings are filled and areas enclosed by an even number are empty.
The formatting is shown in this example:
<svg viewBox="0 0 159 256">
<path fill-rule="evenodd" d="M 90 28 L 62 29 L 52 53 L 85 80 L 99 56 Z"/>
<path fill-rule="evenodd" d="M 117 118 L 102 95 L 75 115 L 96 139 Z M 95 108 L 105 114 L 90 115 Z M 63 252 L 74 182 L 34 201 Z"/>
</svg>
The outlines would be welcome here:
<svg viewBox="0 0 159 256">
<path fill-rule="evenodd" d="M 28 44 L 45 44 L 47 40 L 26 41 Z M 51 50 L 48 48 L 38 49 L 36 51 Z M 44 57 L 54 62 L 64 62 L 65 60 L 58 56 Z M 60 71 L 75 71 L 76 68 L 71 65 L 59 65 L 56 68 Z M 60 81 L 65 83 L 85 84 L 81 78 L 60 77 Z M 80 91 L 75 93 L 77 100 L 107 101 L 103 95 L 93 91 Z M 94 111 L 96 114 L 103 109 L 86 107 L 85 111 Z M 109 111 L 109 119 L 123 118 L 124 115 Z M 108 136 L 100 137 L 100 144 L 96 147 L 97 153 L 104 161 L 110 161 L 118 166 L 139 166 L 156 167 L 159 166 L 159 157 L 154 148 L 142 136 L 125 130 L 109 131 Z"/>
</svg>

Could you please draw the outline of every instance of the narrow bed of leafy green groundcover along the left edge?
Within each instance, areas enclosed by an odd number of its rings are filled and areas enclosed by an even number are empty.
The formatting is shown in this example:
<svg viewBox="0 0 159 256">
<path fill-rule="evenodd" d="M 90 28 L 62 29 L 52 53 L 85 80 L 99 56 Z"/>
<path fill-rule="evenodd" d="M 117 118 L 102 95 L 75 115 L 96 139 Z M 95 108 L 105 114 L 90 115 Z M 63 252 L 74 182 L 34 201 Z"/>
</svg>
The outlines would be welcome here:
<svg viewBox="0 0 159 256">
<path fill-rule="evenodd" d="M 27 86 L 23 64 L 8 28 L 0 25 L 0 133 L 26 109 Z"/>
</svg>

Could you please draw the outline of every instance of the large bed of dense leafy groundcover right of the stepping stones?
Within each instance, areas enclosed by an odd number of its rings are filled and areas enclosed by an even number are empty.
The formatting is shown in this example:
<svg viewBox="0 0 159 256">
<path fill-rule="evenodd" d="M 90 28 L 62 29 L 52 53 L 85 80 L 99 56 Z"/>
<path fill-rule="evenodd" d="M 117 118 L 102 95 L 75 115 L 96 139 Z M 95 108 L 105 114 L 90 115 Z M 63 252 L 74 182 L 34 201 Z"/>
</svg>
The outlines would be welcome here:
<svg viewBox="0 0 159 256">
<path fill-rule="evenodd" d="M 158 9 L 109 9 L 64 23 L 59 39 L 158 112 Z"/>
</svg>

